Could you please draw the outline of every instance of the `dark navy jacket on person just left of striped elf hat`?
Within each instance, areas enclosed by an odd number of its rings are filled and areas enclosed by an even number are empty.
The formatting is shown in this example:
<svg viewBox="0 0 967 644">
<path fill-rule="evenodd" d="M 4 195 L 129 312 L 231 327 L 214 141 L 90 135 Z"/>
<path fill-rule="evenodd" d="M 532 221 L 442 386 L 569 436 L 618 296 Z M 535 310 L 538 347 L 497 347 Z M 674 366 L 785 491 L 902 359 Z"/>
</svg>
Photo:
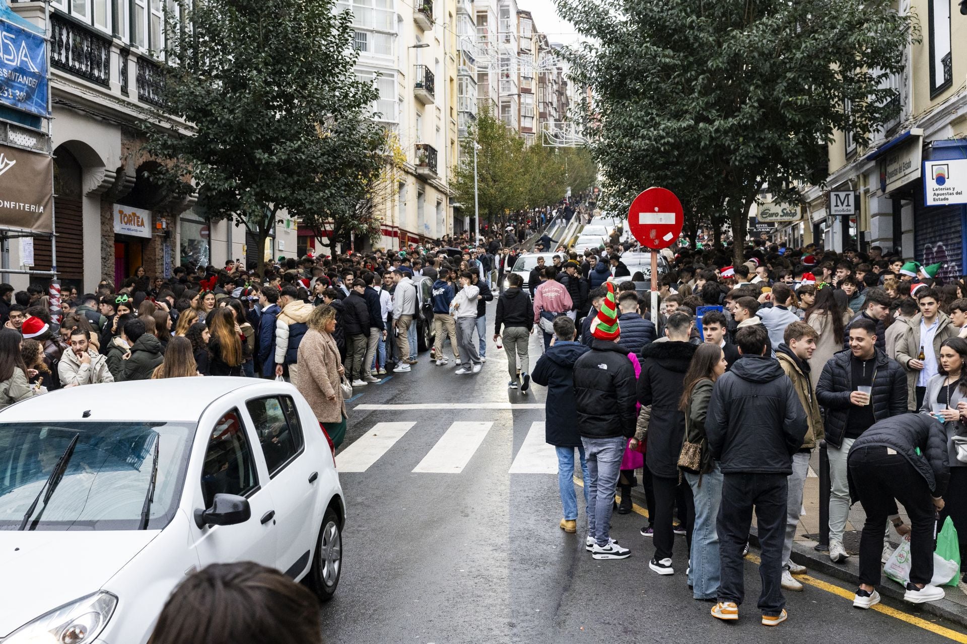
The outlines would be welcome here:
<svg viewBox="0 0 967 644">
<path fill-rule="evenodd" d="M 581 436 L 574 418 L 574 363 L 591 349 L 579 342 L 555 342 L 544 351 L 531 372 L 531 379 L 547 387 L 544 435 L 556 447 L 577 447 Z"/>
</svg>

